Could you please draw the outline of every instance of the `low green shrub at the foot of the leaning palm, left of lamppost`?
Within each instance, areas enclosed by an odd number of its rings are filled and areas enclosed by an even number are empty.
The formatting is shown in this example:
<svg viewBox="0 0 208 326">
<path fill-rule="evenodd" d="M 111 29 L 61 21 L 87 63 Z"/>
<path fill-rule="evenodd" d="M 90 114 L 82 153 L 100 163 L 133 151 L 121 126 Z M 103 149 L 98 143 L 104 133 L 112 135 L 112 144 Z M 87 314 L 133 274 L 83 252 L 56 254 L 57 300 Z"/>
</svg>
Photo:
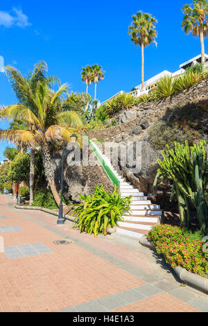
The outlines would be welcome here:
<svg viewBox="0 0 208 326">
<path fill-rule="evenodd" d="M 38 189 L 34 194 L 33 206 L 44 207 L 48 209 L 57 209 L 53 194 L 49 189 Z"/>
</svg>

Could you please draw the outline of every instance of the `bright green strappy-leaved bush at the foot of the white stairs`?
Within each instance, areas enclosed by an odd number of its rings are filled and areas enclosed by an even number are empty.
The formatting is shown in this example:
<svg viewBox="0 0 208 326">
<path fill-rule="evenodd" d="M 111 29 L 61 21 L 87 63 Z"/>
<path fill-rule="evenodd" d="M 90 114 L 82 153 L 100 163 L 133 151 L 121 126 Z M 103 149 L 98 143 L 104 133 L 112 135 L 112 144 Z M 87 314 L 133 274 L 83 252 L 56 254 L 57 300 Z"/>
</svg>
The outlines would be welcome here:
<svg viewBox="0 0 208 326">
<path fill-rule="evenodd" d="M 101 232 L 107 233 L 108 227 L 114 227 L 121 221 L 122 215 L 130 209 L 130 198 L 121 198 L 116 187 L 112 194 L 107 194 L 103 186 L 96 186 L 94 195 L 81 196 L 83 203 L 75 209 L 76 219 L 74 228 L 80 232 L 94 233 L 94 236 Z"/>
</svg>

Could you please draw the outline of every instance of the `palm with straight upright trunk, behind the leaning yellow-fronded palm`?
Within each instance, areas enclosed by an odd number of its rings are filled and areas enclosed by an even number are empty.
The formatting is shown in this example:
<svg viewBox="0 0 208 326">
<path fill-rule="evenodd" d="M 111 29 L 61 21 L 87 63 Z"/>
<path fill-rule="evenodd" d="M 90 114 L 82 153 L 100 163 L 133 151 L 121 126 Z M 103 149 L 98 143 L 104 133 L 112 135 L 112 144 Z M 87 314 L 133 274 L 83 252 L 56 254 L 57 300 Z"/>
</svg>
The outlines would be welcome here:
<svg viewBox="0 0 208 326">
<path fill-rule="evenodd" d="M 21 75 L 21 73 L 13 68 L 6 67 L 6 74 L 11 82 L 12 89 L 15 92 L 19 103 L 24 104 L 31 108 L 31 110 L 36 110 L 31 101 L 31 96 L 35 93 L 36 87 L 40 81 L 45 81 L 51 87 L 54 83 L 60 84 L 60 80 L 55 76 L 46 77 L 47 65 L 46 62 L 41 61 L 35 64 L 32 74 L 29 74 L 27 78 Z M 22 126 L 23 121 L 12 122 L 15 126 L 12 126 L 13 130 L 19 129 L 33 129 L 34 126 L 31 123 L 28 124 L 28 121 L 25 121 L 24 127 Z M 11 124 L 11 123 L 10 123 Z M 16 126 L 17 125 L 17 126 Z M 27 126 L 27 128 L 26 128 Z M 19 144 L 16 144 L 19 146 Z M 25 144 L 21 144 L 22 148 L 25 148 Z M 34 173 L 35 173 L 35 145 L 28 144 L 28 148 L 31 150 L 31 164 L 30 164 L 30 205 L 33 204 L 33 192 L 34 192 Z"/>
</svg>

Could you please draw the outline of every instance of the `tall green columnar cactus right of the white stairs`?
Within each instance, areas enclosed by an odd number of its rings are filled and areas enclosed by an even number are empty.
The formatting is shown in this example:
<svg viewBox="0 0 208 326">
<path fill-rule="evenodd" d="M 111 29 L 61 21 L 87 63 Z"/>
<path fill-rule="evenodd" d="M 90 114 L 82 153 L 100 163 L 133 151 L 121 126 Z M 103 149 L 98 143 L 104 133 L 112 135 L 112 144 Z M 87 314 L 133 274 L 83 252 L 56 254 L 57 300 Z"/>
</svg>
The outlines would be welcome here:
<svg viewBox="0 0 208 326">
<path fill-rule="evenodd" d="M 173 194 L 176 194 L 179 205 L 182 224 L 189 227 L 189 200 L 196 207 L 200 227 L 208 234 L 208 205 L 205 199 L 207 188 L 208 151 L 206 141 L 189 146 L 175 142 L 175 148 L 166 145 L 166 151 L 162 153 L 164 159 L 157 160 L 160 169 L 157 170 L 154 185 L 157 178 L 173 181 Z M 171 199 L 173 198 L 173 194 Z"/>
</svg>

